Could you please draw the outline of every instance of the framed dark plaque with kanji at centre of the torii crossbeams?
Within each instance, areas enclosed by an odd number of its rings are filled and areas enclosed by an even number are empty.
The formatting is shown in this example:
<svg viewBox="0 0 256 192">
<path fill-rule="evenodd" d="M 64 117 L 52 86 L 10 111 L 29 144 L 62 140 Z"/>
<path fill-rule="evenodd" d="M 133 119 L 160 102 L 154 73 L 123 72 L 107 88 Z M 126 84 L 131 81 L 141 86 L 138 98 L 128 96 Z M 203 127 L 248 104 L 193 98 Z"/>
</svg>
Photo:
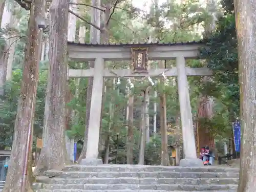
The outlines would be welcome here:
<svg viewBox="0 0 256 192">
<path fill-rule="evenodd" d="M 134 73 L 147 73 L 147 47 L 132 48 L 132 62 Z"/>
</svg>

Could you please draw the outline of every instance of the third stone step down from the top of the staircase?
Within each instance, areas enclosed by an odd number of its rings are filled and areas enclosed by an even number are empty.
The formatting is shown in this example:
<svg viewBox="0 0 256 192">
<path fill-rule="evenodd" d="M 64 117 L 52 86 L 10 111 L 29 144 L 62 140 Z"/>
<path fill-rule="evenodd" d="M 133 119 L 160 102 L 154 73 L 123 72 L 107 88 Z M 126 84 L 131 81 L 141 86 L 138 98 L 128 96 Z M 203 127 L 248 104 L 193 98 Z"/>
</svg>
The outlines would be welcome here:
<svg viewBox="0 0 256 192">
<path fill-rule="evenodd" d="M 85 179 L 57 179 L 52 178 L 50 184 L 238 184 L 239 178 L 85 178 Z"/>
</svg>

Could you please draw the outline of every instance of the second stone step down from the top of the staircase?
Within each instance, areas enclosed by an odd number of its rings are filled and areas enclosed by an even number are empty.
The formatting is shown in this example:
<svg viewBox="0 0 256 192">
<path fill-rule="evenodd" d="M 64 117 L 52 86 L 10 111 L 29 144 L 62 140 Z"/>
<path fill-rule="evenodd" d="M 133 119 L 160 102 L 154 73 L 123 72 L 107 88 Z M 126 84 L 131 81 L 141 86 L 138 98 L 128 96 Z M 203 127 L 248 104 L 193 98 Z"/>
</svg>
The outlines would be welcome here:
<svg viewBox="0 0 256 192">
<path fill-rule="evenodd" d="M 135 178 L 238 178 L 239 173 L 200 173 L 200 172 L 60 172 L 46 173 L 47 176 L 66 179 L 77 178 L 119 178 L 119 177 L 135 177 Z"/>
</svg>

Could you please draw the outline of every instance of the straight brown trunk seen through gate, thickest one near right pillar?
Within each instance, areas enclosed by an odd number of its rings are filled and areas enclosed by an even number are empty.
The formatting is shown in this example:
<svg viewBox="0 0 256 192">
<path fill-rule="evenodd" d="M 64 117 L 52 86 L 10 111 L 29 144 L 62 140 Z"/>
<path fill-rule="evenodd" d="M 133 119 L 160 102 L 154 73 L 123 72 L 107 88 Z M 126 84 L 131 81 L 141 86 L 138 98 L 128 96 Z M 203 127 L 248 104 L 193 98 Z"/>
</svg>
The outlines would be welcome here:
<svg viewBox="0 0 256 192">
<path fill-rule="evenodd" d="M 160 61 L 160 68 L 164 68 L 164 61 Z M 160 84 L 164 84 L 163 78 L 160 78 Z M 160 131 L 161 131 L 161 165 L 169 166 L 169 155 L 168 155 L 168 135 L 167 135 L 167 122 L 166 122 L 166 99 L 164 90 L 160 93 Z"/>
</svg>

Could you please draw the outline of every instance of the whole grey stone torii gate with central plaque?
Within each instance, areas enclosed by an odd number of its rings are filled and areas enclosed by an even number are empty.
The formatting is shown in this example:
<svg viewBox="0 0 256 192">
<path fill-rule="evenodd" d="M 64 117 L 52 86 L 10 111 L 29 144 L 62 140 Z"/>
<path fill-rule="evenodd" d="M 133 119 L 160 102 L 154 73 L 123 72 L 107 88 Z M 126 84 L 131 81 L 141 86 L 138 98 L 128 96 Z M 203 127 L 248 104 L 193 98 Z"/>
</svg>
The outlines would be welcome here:
<svg viewBox="0 0 256 192">
<path fill-rule="evenodd" d="M 209 76 L 208 68 L 186 67 L 185 59 L 198 59 L 199 48 L 202 42 L 185 42 L 175 44 L 76 44 L 68 42 L 69 58 L 74 61 L 95 61 L 95 67 L 88 70 L 70 69 L 69 77 L 93 77 L 91 113 L 88 130 L 88 144 L 86 159 L 82 164 L 100 162 L 98 158 L 98 143 L 100 135 L 101 104 L 103 95 L 104 77 L 145 77 L 177 76 L 178 93 L 183 133 L 183 147 L 185 159 L 180 166 L 201 166 L 201 159 L 197 159 L 196 143 L 189 99 L 187 76 Z M 176 60 L 176 67 L 171 69 L 147 70 L 147 60 Z M 108 70 L 104 68 L 107 60 L 132 60 L 131 70 Z"/>
</svg>

